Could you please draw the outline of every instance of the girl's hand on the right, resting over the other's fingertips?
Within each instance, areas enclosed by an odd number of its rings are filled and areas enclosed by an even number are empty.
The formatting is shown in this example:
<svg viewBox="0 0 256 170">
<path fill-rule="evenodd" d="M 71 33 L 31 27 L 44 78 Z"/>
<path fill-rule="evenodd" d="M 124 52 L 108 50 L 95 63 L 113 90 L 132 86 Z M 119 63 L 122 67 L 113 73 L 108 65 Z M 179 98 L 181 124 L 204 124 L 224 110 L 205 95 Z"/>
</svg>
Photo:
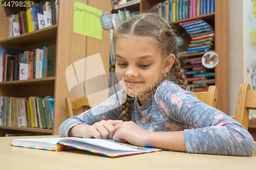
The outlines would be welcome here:
<svg viewBox="0 0 256 170">
<path fill-rule="evenodd" d="M 124 122 L 122 124 L 115 125 L 116 132 L 113 136 L 113 140 L 117 142 L 130 142 L 134 145 L 139 145 L 141 147 L 146 147 L 147 136 L 151 132 L 148 132 L 134 122 Z"/>
</svg>

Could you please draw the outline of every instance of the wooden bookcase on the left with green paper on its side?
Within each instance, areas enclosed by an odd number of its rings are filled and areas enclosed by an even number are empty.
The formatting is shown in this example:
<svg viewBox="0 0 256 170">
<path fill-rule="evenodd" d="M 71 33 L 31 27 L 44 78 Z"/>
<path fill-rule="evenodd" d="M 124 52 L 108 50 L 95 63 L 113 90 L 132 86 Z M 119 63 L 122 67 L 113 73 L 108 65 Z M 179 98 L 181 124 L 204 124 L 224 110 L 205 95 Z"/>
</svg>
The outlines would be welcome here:
<svg viewBox="0 0 256 170">
<path fill-rule="evenodd" d="M 103 12 L 111 13 L 111 0 L 77 1 L 100 9 Z M 73 3 L 74 1 L 72 0 L 59 1 L 57 25 L 12 38 L 8 38 L 9 21 L 5 15 L 3 4 L 0 4 L 0 46 L 32 51 L 34 48 L 57 45 L 55 77 L 0 83 L 0 96 L 15 96 L 19 98 L 24 96 L 54 96 L 53 129 L 0 126 L 0 136 L 4 136 L 6 133 L 21 132 L 29 132 L 34 135 L 58 135 L 60 124 L 67 119 L 65 98 L 70 98 L 72 101 L 82 98 L 69 94 L 66 82 L 66 68 L 84 57 L 100 53 L 105 71 L 109 71 L 110 31 L 102 28 L 102 40 L 73 33 Z M 82 112 L 83 108 L 80 108 L 75 113 Z"/>
</svg>

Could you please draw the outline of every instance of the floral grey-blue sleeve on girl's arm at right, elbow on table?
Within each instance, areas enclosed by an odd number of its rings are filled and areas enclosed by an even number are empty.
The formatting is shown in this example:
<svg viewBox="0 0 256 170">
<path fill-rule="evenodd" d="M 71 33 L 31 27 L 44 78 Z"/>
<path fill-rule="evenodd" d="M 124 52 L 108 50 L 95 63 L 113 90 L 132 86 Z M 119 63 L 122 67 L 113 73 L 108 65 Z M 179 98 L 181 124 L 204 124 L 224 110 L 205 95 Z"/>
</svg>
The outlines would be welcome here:
<svg viewBox="0 0 256 170">
<path fill-rule="evenodd" d="M 249 132 L 220 110 L 166 81 L 157 89 L 155 100 L 169 119 L 189 128 L 184 130 L 187 153 L 251 156 L 255 143 Z M 229 106 L 227 106 L 229 107 Z"/>
</svg>

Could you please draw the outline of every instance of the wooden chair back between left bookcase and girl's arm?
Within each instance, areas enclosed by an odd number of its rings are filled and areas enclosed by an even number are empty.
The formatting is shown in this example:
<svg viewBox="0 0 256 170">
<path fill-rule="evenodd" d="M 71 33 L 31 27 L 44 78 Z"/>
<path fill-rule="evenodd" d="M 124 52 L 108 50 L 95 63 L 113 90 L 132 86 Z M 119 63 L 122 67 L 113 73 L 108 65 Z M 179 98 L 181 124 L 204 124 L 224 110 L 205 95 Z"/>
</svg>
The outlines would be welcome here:
<svg viewBox="0 0 256 170">
<path fill-rule="evenodd" d="M 67 116 L 68 117 L 74 116 L 73 110 L 77 110 L 82 106 L 88 107 L 90 109 L 89 101 L 91 103 L 91 107 L 95 107 L 98 105 L 96 102 L 94 102 L 90 99 L 79 99 L 76 102 L 71 102 L 71 100 L 69 98 L 66 98 L 65 104 L 66 104 Z"/>
</svg>

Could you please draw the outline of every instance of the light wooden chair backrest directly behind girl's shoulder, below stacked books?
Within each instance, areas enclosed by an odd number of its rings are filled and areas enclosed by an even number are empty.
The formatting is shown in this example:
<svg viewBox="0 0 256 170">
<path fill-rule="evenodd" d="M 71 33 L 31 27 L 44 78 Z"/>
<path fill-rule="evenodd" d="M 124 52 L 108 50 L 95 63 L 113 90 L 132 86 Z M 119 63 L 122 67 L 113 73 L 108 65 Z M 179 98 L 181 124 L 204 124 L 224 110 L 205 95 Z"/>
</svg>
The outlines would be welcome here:
<svg viewBox="0 0 256 170">
<path fill-rule="evenodd" d="M 201 102 L 204 102 L 205 104 L 216 108 L 217 105 L 217 93 L 218 88 L 217 86 L 209 86 L 208 91 L 204 92 L 192 92 L 194 95 L 196 95 L 197 99 Z"/>
</svg>

